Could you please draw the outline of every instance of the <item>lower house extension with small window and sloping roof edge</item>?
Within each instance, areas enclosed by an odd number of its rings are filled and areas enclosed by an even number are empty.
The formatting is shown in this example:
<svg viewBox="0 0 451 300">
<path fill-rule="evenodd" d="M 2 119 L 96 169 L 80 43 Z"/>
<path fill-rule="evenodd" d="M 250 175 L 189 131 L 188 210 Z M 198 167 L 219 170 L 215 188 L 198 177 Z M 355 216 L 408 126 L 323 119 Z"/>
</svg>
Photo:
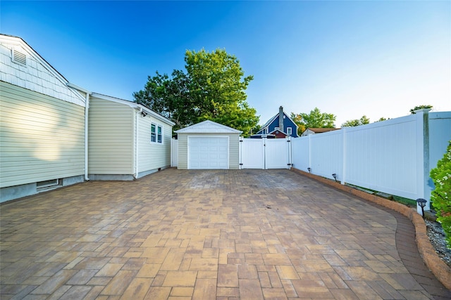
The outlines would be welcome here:
<svg viewBox="0 0 451 300">
<path fill-rule="evenodd" d="M 89 98 L 88 119 L 90 180 L 133 180 L 171 167 L 169 119 L 99 93 Z"/>
</svg>

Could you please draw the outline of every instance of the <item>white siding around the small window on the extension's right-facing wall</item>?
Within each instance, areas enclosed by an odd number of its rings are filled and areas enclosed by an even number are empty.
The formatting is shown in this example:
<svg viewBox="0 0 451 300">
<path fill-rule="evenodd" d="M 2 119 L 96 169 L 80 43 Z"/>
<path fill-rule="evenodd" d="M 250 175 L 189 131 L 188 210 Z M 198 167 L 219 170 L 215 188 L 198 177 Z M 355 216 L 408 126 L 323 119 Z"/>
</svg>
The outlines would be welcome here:
<svg viewBox="0 0 451 300">
<path fill-rule="evenodd" d="M 147 115 L 138 115 L 138 172 L 154 170 L 171 166 L 171 138 L 172 126 L 159 122 Z M 154 123 L 163 127 L 163 143 L 150 142 L 150 125 Z"/>
</svg>

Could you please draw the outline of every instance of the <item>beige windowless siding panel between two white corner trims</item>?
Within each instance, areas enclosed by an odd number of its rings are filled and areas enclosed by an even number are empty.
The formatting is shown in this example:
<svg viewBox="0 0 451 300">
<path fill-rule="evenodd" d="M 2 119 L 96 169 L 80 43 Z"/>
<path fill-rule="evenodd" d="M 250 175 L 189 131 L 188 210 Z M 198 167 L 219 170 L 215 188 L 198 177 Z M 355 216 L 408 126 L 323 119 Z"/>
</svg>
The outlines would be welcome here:
<svg viewBox="0 0 451 300">
<path fill-rule="evenodd" d="M 88 173 L 133 174 L 133 109 L 92 98 L 89 103 Z"/>
</svg>

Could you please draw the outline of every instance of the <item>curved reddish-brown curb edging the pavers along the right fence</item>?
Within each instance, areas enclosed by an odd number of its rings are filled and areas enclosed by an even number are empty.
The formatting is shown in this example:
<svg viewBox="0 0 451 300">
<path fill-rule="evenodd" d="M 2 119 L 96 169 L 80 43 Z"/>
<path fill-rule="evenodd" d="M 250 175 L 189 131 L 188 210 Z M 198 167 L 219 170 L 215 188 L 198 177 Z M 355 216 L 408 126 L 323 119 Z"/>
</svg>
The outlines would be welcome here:
<svg viewBox="0 0 451 300">
<path fill-rule="evenodd" d="M 335 181 L 331 181 L 328 178 L 323 178 L 321 176 L 316 176 L 313 174 L 309 174 L 307 172 L 301 171 L 299 169 L 292 168 L 292 171 L 295 171 L 298 174 L 303 176 L 307 176 L 321 183 L 325 183 L 326 185 L 330 185 L 333 188 L 337 188 L 338 190 L 345 191 L 346 193 L 350 193 L 357 197 L 360 197 L 364 200 L 368 200 L 374 202 L 376 204 L 382 205 L 383 207 L 388 207 L 389 209 L 393 209 L 394 211 L 407 216 L 407 218 L 412 221 L 415 227 L 415 237 L 416 237 L 416 246 L 418 247 L 418 251 L 423 258 L 426 266 L 428 266 L 429 270 L 435 275 L 438 281 L 442 282 L 442 284 L 447 288 L 451 289 L 451 268 L 447 266 L 447 264 L 440 259 L 438 254 L 435 252 L 435 249 L 432 247 L 431 241 L 426 233 L 426 224 L 424 223 L 423 218 L 416 213 L 416 210 L 411 209 L 404 204 L 387 200 L 382 197 L 378 197 L 376 195 L 371 195 L 369 193 L 365 193 L 362 190 L 356 190 L 355 188 L 351 188 L 347 185 L 342 185 L 341 183 L 337 183 Z"/>
</svg>

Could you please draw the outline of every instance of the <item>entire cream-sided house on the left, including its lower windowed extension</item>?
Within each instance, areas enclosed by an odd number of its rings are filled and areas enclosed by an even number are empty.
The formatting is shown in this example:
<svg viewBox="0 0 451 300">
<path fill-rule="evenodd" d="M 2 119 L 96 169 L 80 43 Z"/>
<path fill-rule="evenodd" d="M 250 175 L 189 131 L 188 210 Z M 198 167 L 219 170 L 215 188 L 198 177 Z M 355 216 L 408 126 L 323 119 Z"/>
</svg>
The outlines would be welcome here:
<svg viewBox="0 0 451 300">
<path fill-rule="evenodd" d="M 23 39 L 0 34 L 0 202 L 170 167 L 173 125 L 71 84 Z"/>
</svg>

